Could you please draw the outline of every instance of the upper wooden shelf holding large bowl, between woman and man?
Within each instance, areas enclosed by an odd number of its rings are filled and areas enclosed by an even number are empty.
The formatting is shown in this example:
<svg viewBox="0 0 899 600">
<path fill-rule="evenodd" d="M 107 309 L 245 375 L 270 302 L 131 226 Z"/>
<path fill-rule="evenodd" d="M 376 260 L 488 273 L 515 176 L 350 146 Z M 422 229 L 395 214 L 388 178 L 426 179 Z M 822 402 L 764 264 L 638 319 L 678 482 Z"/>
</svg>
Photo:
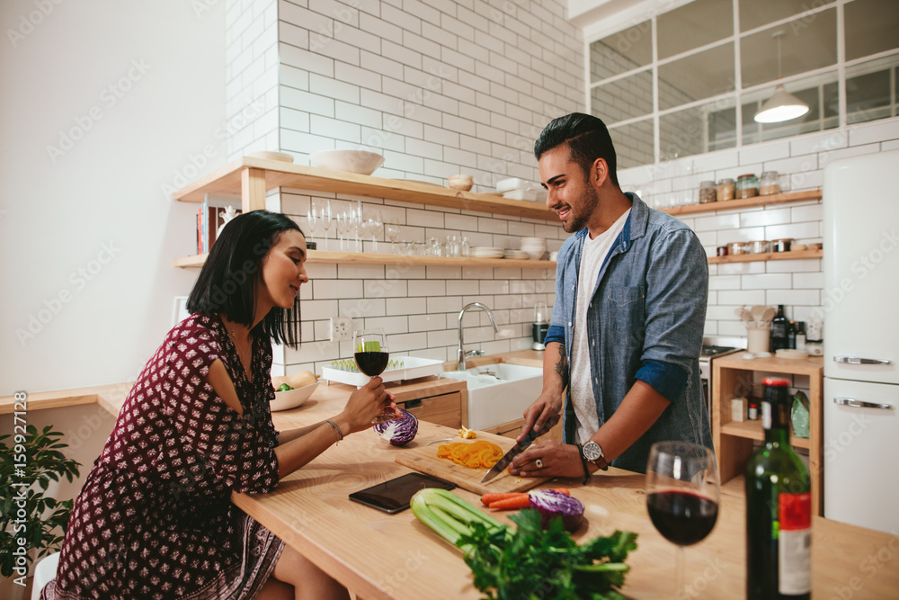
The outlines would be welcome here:
<svg viewBox="0 0 899 600">
<path fill-rule="evenodd" d="M 509 200 L 493 194 L 459 192 L 423 182 L 385 179 L 249 157 L 223 166 L 175 192 L 173 198 L 185 202 L 201 202 L 208 193 L 241 196 L 244 210 L 248 211 L 264 208 L 264 193 L 276 187 L 386 198 L 426 206 L 558 222 L 556 213 L 540 202 Z"/>
</svg>

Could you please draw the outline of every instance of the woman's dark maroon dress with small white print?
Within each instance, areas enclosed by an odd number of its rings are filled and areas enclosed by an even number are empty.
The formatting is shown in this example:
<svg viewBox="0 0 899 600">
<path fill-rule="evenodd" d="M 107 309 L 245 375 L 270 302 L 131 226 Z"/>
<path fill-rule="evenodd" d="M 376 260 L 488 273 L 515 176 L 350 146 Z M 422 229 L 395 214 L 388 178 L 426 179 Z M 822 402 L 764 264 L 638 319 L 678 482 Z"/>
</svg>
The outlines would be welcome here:
<svg viewBox="0 0 899 600">
<path fill-rule="evenodd" d="M 225 364 L 243 415 L 206 381 Z M 231 504 L 278 483 L 271 345 L 252 381 L 218 316 L 175 326 L 144 367 L 79 494 L 41 598 L 252 598 L 282 542 Z"/>
</svg>

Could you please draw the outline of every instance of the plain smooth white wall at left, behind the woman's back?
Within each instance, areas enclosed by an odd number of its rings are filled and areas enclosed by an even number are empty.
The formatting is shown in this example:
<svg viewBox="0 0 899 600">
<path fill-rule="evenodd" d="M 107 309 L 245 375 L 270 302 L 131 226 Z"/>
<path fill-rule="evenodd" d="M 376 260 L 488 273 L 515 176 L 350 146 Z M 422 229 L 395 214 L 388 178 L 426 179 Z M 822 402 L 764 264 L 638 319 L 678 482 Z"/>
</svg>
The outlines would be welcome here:
<svg viewBox="0 0 899 600">
<path fill-rule="evenodd" d="M 222 3 L 38 4 L 0 3 L 0 395 L 137 376 L 196 277 L 163 186 L 227 152 Z"/>
</svg>

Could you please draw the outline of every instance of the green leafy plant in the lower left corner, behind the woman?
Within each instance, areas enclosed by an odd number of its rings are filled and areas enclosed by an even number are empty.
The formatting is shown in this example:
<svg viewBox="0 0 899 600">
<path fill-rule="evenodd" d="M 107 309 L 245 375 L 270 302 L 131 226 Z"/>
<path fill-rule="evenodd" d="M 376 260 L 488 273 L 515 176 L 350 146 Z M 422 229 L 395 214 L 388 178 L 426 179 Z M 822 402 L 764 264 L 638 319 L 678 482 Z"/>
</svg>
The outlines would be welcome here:
<svg viewBox="0 0 899 600">
<path fill-rule="evenodd" d="M 0 573 L 7 578 L 15 573 L 23 585 L 35 559 L 58 551 L 72 513 L 73 500 L 46 494 L 49 483 L 61 477 L 71 482 L 81 464 L 59 452 L 68 444 L 53 425 L 40 434 L 34 425 L 14 430 L 0 435 Z"/>
</svg>

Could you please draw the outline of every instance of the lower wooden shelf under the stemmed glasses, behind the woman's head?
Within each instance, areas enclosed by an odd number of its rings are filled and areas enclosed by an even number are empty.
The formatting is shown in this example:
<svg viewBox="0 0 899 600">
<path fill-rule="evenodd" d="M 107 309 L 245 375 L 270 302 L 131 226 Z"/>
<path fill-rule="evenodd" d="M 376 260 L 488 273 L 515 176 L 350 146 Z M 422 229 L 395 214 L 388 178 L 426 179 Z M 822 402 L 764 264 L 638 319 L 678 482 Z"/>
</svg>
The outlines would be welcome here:
<svg viewBox="0 0 899 600">
<path fill-rule="evenodd" d="M 174 259 L 182 268 L 199 268 L 208 255 Z M 452 256 L 388 255 L 373 252 L 333 252 L 309 250 L 308 264 L 407 264 L 410 266 L 485 266 L 505 269 L 556 269 L 555 261 L 512 260 L 508 258 L 474 258 Z"/>
</svg>

